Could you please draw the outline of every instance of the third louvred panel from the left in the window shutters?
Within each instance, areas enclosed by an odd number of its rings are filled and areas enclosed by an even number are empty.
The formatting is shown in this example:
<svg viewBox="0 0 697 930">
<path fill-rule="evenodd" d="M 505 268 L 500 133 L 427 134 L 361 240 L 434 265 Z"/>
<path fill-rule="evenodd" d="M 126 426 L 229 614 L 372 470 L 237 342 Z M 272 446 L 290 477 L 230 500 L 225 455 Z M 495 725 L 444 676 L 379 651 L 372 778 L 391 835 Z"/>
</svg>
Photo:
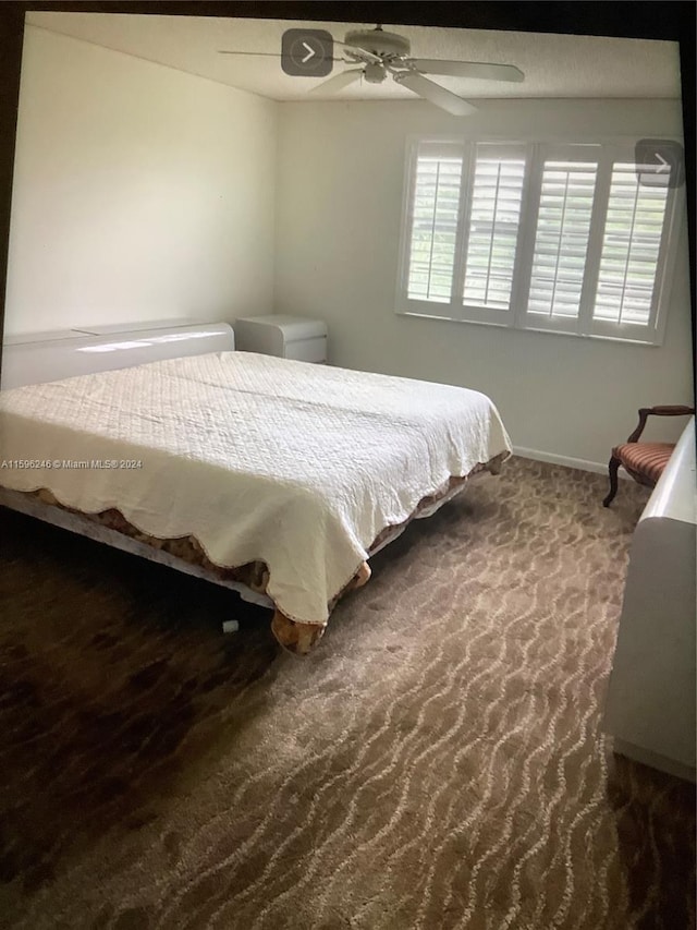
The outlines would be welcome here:
<svg viewBox="0 0 697 930">
<path fill-rule="evenodd" d="M 527 305 L 538 318 L 579 315 L 597 172 L 594 161 L 545 161 Z"/>
</svg>

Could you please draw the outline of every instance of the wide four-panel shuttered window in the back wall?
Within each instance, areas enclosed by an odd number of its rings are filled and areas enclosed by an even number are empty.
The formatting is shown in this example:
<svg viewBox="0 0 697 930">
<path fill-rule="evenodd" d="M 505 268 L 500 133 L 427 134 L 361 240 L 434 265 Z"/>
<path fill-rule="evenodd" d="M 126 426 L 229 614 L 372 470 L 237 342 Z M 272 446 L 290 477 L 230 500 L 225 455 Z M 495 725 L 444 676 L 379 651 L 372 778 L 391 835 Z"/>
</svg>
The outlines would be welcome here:
<svg viewBox="0 0 697 930">
<path fill-rule="evenodd" d="M 407 154 L 399 313 L 660 345 L 677 198 L 631 144 Z"/>
</svg>

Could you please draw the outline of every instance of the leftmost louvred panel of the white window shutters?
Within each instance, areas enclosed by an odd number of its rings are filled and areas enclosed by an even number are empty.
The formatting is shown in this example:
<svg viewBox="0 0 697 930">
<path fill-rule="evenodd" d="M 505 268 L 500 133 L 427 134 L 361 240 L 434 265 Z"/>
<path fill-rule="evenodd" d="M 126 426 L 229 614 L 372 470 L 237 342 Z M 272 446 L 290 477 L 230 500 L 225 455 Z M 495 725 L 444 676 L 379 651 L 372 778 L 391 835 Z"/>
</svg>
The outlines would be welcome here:
<svg viewBox="0 0 697 930">
<path fill-rule="evenodd" d="M 462 153 L 454 147 L 419 147 L 411 215 L 409 300 L 450 303 L 462 162 Z"/>
</svg>

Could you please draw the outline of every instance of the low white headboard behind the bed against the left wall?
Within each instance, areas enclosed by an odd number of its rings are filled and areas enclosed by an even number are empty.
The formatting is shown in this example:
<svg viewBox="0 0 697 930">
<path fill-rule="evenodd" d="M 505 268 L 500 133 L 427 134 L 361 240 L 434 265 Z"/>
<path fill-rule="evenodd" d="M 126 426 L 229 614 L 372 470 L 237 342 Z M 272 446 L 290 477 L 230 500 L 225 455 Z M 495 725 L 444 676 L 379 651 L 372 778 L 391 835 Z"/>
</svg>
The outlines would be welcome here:
<svg viewBox="0 0 697 930">
<path fill-rule="evenodd" d="M 61 381 L 73 375 L 127 369 L 161 359 L 230 352 L 228 323 L 149 323 L 147 327 L 95 326 L 8 337 L 0 387 Z"/>
</svg>

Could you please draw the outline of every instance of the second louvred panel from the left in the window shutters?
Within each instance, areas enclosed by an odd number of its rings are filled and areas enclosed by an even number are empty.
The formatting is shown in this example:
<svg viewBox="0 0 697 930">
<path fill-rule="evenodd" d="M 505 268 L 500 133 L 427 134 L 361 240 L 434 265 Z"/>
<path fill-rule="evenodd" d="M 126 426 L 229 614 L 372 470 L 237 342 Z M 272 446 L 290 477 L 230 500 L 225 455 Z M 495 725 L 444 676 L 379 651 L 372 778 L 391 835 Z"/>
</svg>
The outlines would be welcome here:
<svg viewBox="0 0 697 930">
<path fill-rule="evenodd" d="M 511 309 L 524 178 L 522 146 L 477 145 L 465 253 L 465 304 Z"/>
</svg>

